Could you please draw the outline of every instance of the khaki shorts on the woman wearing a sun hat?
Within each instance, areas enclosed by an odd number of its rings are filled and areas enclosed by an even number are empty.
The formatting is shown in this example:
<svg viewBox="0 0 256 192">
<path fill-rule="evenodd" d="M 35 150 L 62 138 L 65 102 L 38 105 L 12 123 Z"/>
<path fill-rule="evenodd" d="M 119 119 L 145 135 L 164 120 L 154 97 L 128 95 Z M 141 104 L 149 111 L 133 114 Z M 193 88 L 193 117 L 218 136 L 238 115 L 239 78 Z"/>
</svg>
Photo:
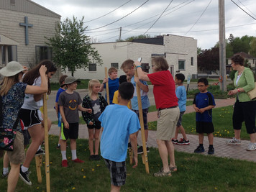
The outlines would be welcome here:
<svg viewBox="0 0 256 192">
<path fill-rule="evenodd" d="M 14 150 L 6 151 L 9 160 L 12 164 L 20 164 L 25 160 L 24 152 L 24 137 L 21 132 L 16 132 L 16 137 L 14 140 Z"/>
</svg>

